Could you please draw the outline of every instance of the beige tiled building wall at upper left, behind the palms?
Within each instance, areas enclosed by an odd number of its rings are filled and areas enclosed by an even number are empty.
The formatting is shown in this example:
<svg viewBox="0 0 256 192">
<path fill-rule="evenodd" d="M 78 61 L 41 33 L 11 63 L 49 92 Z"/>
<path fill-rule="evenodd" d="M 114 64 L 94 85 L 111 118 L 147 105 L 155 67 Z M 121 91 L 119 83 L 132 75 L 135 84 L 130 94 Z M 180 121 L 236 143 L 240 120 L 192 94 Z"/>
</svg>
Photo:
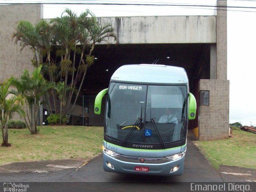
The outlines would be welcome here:
<svg viewBox="0 0 256 192">
<path fill-rule="evenodd" d="M 33 57 L 31 50 L 24 48 L 20 52 L 21 46 L 14 44 L 12 34 L 20 20 L 28 20 L 32 24 L 39 22 L 43 17 L 42 8 L 42 4 L 0 5 L 0 83 L 11 76 L 19 78 L 24 69 L 34 70 L 30 62 Z M 14 119 L 20 119 L 20 116 L 16 114 Z"/>
</svg>

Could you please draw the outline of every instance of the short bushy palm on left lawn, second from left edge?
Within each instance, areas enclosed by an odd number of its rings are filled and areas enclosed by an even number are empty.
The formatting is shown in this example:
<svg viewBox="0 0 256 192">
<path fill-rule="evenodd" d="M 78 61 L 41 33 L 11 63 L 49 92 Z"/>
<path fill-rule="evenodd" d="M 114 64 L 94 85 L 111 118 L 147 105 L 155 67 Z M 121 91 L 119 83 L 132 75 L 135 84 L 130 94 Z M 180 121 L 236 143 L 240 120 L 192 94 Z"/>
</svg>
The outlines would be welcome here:
<svg viewBox="0 0 256 192">
<path fill-rule="evenodd" d="M 25 98 L 27 116 L 24 117 L 26 125 L 31 134 L 36 134 L 38 124 L 38 113 L 42 99 L 48 90 L 52 88 L 41 74 L 42 65 L 34 70 L 30 76 L 28 70 L 24 70 L 19 79 L 14 79 L 12 84 L 17 90 L 12 90 L 15 95 L 22 95 Z"/>
</svg>

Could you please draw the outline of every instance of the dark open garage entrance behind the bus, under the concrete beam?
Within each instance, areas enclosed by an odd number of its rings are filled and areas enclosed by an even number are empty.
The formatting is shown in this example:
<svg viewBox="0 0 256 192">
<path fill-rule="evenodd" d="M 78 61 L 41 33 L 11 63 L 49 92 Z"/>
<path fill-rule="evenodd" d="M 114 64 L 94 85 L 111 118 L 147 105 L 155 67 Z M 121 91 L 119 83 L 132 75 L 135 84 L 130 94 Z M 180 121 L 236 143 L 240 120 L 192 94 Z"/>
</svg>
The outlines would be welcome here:
<svg viewBox="0 0 256 192">
<path fill-rule="evenodd" d="M 198 82 L 210 79 L 211 44 L 117 44 L 97 45 L 93 55 L 97 58 L 86 74 L 83 94 L 96 95 L 107 88 L 114 71 L 124 64 L 157 64 L 185 68 L 190 92 L 199 103 Z M 198 114 L 198 113 L 197 113 Z M 102 121 L 103 123 L 103 121 Z M 198 118 L 190 121 L 189 128 L 198 126 Z"/>
</svg>

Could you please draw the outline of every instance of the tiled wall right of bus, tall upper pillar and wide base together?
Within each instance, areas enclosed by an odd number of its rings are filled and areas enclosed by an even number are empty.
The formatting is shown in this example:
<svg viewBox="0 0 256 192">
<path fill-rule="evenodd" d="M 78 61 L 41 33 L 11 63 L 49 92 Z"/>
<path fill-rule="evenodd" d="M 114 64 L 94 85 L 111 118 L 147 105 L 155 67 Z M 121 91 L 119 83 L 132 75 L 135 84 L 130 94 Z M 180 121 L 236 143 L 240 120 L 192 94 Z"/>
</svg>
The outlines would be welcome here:
<svg viewBox="0 0 256 192">
<path fill-rule="evenodd" d="M 226 0 L 218 0 L 226 6 Z M 216 10 L 216 46 L 211 46 L 210 79 L 199 81 L 199 90 L 208 90 L 209 106 L 199 106 L 199 140 L 219 140 L 229 136 L 229 80 L 227 80 L 227 11 Z M 201 99 L 201 98 L 200 98 Z"/>
</svg>

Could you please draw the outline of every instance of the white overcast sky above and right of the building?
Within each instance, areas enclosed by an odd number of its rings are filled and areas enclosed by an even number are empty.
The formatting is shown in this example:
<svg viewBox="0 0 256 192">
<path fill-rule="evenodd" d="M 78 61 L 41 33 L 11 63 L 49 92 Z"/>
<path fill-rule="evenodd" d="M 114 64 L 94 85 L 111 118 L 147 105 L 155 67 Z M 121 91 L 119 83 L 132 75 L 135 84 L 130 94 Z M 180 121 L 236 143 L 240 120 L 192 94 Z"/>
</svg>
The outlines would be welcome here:
<svg viewBox="0 0 256 192">
<path fill-rule="evenodd" d="M 72 2 L 72 0 L 0 0 L 0 3 Z M 73 0 L 73 2 L 215 5 L 216 0 Z M 228 0 L 228 6 L 256 7 L 252 0 Z M 208 7 L 112 6 L 44 4 L 44 18 L 60 16 L 65 8 L 77 14 L 90 9 L 97 17 L 212 15 Z M 228 8 L 228 80 L 230 80 L 230 123 L 256 126 L 256 8 Z M 231 11 L 238 10 L 238 11 Z M 246 12 L 245 12 L 246 11 Z M 249 11 L 249 12 L 248 12 Z"/>
</svg>

